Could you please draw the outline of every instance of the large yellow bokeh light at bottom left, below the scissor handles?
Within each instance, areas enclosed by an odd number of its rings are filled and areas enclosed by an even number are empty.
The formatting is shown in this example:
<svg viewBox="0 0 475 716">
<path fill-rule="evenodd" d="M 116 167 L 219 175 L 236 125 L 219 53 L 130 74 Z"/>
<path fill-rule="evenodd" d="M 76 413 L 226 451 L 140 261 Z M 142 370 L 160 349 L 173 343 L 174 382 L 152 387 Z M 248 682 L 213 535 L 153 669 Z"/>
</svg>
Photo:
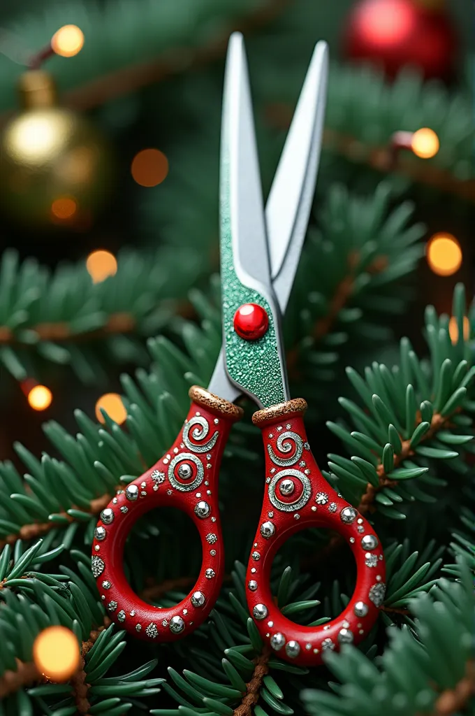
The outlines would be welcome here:
<svg viewBox="0 0 475 716">
<path fill-rule="evenodd" d="M 44 629 L 34 640 L 33 661 L 36 669 L 48 679 L 67 681 L 79 668 L 76 637 L 66 627 Z"/>
</svg>

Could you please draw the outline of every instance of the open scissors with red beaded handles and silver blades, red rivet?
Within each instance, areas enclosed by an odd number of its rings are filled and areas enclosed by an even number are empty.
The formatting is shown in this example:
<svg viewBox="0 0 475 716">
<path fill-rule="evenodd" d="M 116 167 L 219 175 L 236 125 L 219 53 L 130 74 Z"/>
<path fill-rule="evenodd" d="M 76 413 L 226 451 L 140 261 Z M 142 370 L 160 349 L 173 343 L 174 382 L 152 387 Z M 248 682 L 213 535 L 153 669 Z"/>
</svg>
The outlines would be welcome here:
<svg viewBox="0 0 475 716">
<path fill-rule="evenodd" d="M 320 664 L 326 649 L 368 634 L 384 598 L 381 544 L 315 463 L 303 425 L 307 404 L 289 400 L 280 333 L 315 189 L 327 77 L 328 48 L 318 42 L 264 211 L 243 37 L 230 37 L 220 158 L 222 349 L 207 389 L 190 388 L 190 412 L 168 453 L 117 492 L 94 531 L 92 573 L 101 598 L 110 617 L 141 639 L 171 642 L 190 634 L 220 592 L 224 546 L 217 476 L 230 428 L 243 415 L 234 404 L 243 393 L 258 407 L 253 422 L 265 450 L 265 495 L 246 575 L 248 608 L 265 643 L 290 662 Z M 123 568 L 132 525 L 159 505 L 190 516 L 202 543 L 195 586 L 167 609 L 134 594 Z M 309 527 L 340 533 L 357 566 L 348 605 L 316 627 L 283 616 L 270 591 L 278 548 Z"/>
</svg>

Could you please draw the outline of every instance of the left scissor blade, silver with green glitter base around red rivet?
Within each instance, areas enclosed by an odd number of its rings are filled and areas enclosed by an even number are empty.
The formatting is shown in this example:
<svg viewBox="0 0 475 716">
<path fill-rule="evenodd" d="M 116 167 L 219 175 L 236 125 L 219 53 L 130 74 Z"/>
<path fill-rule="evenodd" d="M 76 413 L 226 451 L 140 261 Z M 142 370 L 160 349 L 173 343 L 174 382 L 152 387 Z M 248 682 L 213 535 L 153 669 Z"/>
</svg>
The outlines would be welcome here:
<svg viewBox="0 0 475 716">
<path fill-rule="evenodd" d="M 268 242 L 253 105 L 243 36 L 234 33 L 227 50 L 221 125 L 220 254 L 225 370 L 232 384 L 260 407 L 287 400 L 280 311 L 270 281 Z M 247 340 L 234 328 L 237 309 L 258 304 L 268 328 Z M 217 365 L 210 384 L 222 378 Z"/>
</svg>

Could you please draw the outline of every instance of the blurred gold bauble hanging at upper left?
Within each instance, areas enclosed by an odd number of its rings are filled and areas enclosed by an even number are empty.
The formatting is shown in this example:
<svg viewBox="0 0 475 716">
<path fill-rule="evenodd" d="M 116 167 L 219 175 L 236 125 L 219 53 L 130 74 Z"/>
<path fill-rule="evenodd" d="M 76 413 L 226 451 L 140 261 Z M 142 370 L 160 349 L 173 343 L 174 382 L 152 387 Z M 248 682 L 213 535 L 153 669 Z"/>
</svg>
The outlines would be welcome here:
<svg viewBox="0 0 475 716">
<path fill-rule="evenodd" d="M 15 222 L 88 226 L 109 193 L 112 156 L 104 137 L 57 104 L 51 75 L 20 78 L 21 112 L 0 138 L 0 201 Z"/>
</svg>

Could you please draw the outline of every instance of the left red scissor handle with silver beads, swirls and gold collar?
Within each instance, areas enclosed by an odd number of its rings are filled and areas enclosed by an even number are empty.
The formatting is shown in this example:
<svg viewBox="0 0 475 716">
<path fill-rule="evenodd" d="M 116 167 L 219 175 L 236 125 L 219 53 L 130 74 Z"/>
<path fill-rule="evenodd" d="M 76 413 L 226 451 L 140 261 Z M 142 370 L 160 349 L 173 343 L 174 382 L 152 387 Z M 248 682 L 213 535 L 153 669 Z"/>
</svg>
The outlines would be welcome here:
<svg viewBox="0 0 475 716">
<path fill-rule="evenodd" d="M 110 618 L 135 637 L 157 642 L 180 639 L 205 621 L 220 592 L 224 569 L 217 478 L 230 427 L 243 411 L 197 386 L 189 395 L 192 404 L 180 435 L 150 470 L 118 490 L 100 515 L 92 544 L 92 574 Z M 134 594 L 123 565 L 124 544 L 134 523 L 163 506 L 187 514 L 202 545 L 196 584 L 170 609 L 147 604 Z"/>
</svg>

